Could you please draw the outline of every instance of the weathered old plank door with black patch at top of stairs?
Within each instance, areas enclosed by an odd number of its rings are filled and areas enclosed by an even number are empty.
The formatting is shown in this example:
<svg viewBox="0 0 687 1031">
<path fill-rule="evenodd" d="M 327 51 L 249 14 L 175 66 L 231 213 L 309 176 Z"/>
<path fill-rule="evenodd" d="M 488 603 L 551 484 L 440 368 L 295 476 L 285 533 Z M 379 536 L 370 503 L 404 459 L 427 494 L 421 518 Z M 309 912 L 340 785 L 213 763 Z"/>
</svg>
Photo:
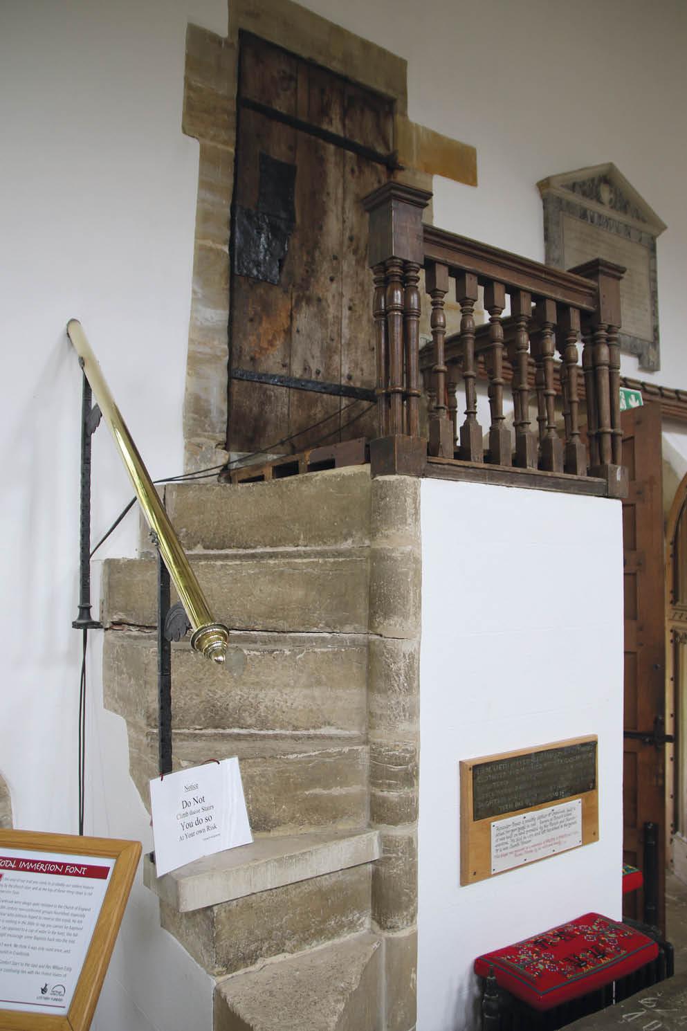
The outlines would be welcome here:
<svg viewBox="0 0 687 1031">
<path fill-rule="evenodd" d="M 230 452 L 288 453 L 325 437 L 332 443 L 374 435 L 369 402 L 268 386 L 236 374 L 374 387 L 367 219 L 361 198 L 386 181 L 389 171 L 323 139 L 321 130 L 388 155 L 392 114 L 389 99 L 256 37 L 241 36 L 232 209 Z M 276 444 L 285 437 L 293 439 Z"/>
</svg>

